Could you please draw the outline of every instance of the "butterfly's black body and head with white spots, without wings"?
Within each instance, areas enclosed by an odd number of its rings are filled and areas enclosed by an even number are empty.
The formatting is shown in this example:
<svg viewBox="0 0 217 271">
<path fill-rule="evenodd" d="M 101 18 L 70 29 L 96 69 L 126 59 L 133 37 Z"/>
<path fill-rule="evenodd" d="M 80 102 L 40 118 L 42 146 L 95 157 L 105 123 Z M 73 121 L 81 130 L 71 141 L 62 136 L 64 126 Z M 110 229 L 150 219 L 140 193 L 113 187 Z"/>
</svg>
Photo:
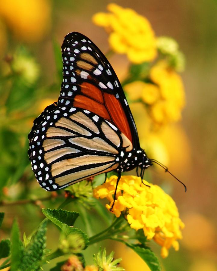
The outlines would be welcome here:
<svg viewBox="0 0 217 271">
<path fill-rule="evenodd" d="M 117 159 L 120 160 L 117 170 L 121 172 L 133 170 L 136 167 L 147 168 L 152 165 L 143 149 L 139 151 L 132 149 L 129 152 L 121 151 L 120 157 Z"/>
</svg>

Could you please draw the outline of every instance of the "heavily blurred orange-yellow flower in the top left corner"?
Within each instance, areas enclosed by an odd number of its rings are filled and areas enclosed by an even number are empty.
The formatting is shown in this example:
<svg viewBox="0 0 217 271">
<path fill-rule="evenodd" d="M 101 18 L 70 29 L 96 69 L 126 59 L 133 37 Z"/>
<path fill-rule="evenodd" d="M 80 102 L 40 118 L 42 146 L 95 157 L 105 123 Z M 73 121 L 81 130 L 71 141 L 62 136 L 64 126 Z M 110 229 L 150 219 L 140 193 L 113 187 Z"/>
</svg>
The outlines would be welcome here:
<svg viewBox="0 0 217 271">
<path fill-rule="evenodd" d="M 47 0 L 0 1 L 0 15 L 18 39 L 39 41 L 50 26 L 50 4 Z"/>
</svg>

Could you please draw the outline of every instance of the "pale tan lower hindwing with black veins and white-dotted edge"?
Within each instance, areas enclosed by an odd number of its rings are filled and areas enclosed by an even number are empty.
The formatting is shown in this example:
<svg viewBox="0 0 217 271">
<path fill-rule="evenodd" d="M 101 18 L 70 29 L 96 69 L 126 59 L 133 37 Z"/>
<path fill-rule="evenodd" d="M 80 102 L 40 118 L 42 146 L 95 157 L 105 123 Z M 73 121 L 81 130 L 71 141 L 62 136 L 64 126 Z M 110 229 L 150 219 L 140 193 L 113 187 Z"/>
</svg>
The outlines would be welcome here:
<svg viewBox="0 0 217 271">
<path fill-rule="evenodd" d="M 124 153 L 133 148 L 117 127 L 90 111 L 59 107 L 46 112 L 47 108 L 29 135 L 32 169 L 45 190 L 117 169 Z"/>
</svg>

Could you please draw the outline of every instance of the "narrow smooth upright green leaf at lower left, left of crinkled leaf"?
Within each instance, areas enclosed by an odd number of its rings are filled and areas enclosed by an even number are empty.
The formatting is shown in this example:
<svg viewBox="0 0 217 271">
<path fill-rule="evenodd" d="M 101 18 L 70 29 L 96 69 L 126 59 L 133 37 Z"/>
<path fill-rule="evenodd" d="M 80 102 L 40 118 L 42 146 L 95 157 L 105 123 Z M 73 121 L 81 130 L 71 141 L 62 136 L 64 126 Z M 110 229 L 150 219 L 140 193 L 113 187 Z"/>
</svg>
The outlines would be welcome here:
<svg viewBox="0 0 217 271">
<path fill-rule="evenodd" d="M 11 229 L 11 271 L 20 270 L 20 261 L 22 257 L 23 247 L 20 241 L 20 232 L 17 221 L 14 220 Z"/>
</svg>

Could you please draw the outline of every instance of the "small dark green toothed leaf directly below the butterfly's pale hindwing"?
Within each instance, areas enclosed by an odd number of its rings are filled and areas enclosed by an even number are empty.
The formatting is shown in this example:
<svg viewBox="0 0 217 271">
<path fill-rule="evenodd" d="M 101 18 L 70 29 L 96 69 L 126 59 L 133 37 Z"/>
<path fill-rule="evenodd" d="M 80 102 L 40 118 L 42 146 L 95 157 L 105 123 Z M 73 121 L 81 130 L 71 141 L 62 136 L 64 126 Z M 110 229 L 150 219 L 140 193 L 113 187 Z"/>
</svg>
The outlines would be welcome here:
<svg viewBox="0 0 217 271">
<path fill-rule="evenodd" d="M 42 213 L 61 229 L 63 223 L 67 226 L 73 226 L 75 220 L 79 216 L 79 213 L 77 212 L 71 212 L 62 209 L 42 209 Z"/>
</svg>

